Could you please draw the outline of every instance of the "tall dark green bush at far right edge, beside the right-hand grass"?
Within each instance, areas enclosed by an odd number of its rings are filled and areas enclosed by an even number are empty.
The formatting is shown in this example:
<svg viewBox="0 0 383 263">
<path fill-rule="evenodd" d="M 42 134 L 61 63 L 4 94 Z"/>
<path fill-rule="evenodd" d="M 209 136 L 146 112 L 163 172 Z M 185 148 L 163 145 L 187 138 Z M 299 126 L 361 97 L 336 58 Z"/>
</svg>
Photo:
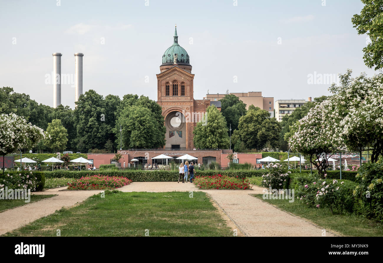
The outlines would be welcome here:
<svg viewBox="0 0 383 263">
<path fill-rule="evenodd" d="M 383 222 L 383 158 L 376 163 L 367 162 L 360 167 L 356 176 L 354 195 L 360 198 L 368 217 Z"/>
</svg>

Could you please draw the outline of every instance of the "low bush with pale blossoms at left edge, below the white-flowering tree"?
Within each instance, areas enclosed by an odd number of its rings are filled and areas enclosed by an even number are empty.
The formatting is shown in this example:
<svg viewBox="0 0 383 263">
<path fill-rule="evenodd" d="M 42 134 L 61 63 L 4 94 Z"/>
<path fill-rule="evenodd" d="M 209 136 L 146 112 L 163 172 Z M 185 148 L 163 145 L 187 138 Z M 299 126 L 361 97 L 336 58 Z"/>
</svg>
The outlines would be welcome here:
<svg viewBox="0 0 383 263">
<path fill-rule="evenodd" d="M 38 178 L 32 172 L 0 175 L 0 190 L 7 186 L 8 189 L 31 189 L 33 192 L 36 191 L 38 185 Z"/>
</svg>

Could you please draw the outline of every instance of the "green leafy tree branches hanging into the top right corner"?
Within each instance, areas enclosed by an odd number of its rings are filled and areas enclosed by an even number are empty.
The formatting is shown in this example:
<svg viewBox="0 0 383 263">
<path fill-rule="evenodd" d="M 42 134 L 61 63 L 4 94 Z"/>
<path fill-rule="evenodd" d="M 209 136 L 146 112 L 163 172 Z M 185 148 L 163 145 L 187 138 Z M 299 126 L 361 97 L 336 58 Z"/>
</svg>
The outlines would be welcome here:
<svg viewBox="0 0 383 263">
<path fill-rule="evenodd" d="M 351 21 L 358 35 L 367 34 L 370 43 L 363 48 L 364 62 L 375 70 L 383 68 L 383 0 L 362 0 L 365 4 L 360 14 Z"/>
</svg>

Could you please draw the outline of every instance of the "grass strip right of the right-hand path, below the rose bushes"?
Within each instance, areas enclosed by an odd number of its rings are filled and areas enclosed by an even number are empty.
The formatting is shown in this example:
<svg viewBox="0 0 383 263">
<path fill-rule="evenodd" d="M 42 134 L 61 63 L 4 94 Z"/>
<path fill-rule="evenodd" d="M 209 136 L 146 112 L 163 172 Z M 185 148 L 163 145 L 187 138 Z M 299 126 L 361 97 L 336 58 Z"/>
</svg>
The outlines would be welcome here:
<svg viewBox="0 0 383 263">
<path fill-rule="evenodd" d="M 354 237 L 382 237 L 383 228 L 378 227 L 378 223 L 359 217 L 355 214 L 339 215 L 334 212 L 331 214 L 328 208 L 309 208 L 301 202 L 295 200 L 289 203 L 288 200 L 272 200 L 262 198 L 262 194 L 253 194 L 254 197 L 271 203 L 287 212 L 306 218 L 314 224 L 326 230 L 338 232 L 344 236 Z"/>
</svg>

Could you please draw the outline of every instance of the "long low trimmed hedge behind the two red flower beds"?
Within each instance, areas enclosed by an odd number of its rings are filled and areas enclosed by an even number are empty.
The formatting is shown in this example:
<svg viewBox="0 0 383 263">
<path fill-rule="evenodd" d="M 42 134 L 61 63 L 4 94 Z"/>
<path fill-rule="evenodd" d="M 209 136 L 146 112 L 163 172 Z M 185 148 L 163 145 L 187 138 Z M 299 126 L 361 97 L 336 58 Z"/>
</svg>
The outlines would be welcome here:
<svg viewBox="0 0 383 263">
<path fill-rule="evenodd" d="M 214 171 L 214 170 L 196 170 L 195 175 L 200 176 L 212 176 L 212 175 L 227 175 L 229 177 L 253 177 L 253 176 L 262 176 L 267 174 L 268 170 L 234 170 L 234 171 Z M 81 178 L 87 175 L 108 175 L 108 176 L 121 176 L 126 177 L 133 182 L 175 182 L 178 180 L 178 171 L 165 171 L 165 170 L 154 170 L 154 171 L 145 171 L 145 170 L 106 170 L 106 171 L 67 171 L 67 170 L 54 170 L 53 172 L 43 172 L 46 178 Z"/>
</svg>

